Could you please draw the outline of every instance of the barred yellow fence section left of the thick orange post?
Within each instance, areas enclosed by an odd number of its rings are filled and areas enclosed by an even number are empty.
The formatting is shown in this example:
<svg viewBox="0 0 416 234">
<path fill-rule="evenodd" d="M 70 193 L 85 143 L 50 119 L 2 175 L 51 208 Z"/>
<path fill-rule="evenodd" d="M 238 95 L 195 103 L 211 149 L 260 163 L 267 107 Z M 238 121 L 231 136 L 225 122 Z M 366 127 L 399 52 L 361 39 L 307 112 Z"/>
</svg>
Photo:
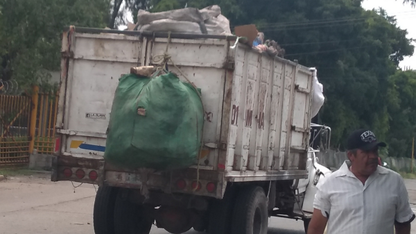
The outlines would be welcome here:
<svg viewBox="0 0 416 234">
<path fill-rule="evenodd" d="M 28 164 L 32 107 L 30 97 L 0 95 L 0 167 Z"/>
</svg>

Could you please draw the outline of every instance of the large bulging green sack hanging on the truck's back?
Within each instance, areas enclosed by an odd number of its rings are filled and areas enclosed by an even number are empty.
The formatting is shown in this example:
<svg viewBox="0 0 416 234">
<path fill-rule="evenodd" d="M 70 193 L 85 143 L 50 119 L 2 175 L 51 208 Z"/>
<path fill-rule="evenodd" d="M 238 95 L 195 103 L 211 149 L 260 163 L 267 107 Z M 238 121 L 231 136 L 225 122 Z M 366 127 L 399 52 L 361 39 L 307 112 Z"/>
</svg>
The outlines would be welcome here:
<svg viewBox="0 0 416 234">
<path fill-rule="evenodd" d="M 121 77 L 110 114 L 105 160 L 129 169 L 157 170 L 196 163 L 204 121 L 198 92 L 172 73 Z"/>
</svg>

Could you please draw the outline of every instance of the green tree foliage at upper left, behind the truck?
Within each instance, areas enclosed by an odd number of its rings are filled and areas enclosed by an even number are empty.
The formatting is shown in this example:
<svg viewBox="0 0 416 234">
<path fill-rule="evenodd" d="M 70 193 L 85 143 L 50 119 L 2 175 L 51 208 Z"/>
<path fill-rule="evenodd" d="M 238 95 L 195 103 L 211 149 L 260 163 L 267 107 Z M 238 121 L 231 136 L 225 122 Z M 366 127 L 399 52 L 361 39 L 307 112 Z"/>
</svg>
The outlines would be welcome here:
<svg viewBox="0 0 416 234">
<path fill-rule="evenodd" d="M 0 79 L 23 89 L 58 71 L 64 26 L 105 27 L 110 0 L 0 0 Z"/>
</svg>

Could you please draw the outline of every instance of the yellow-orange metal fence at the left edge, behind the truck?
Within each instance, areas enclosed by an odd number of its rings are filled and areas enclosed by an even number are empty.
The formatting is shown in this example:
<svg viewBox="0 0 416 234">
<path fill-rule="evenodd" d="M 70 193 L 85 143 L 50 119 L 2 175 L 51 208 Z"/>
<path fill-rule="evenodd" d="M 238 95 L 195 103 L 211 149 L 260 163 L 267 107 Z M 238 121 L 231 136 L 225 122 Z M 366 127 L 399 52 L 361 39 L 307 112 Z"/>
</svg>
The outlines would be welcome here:
<svg viewBox="0 0 416 234">
<path fill-rule="evenodd" d="M 0 167 L 24 167 L 31 153 L 55 151 L 58 94 L 0 94 Z"/>
</svg>

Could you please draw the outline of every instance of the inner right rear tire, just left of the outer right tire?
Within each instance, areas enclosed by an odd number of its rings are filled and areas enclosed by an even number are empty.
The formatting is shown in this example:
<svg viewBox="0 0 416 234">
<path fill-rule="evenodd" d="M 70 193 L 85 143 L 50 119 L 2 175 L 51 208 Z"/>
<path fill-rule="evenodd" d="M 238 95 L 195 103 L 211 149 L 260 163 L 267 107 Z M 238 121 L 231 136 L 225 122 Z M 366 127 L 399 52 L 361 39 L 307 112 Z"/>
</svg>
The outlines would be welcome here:
<svg viewBox="0 0 416 234">
<path fill-rule="evenodd" d="M 209 204 L 209 234 L 231 233 L 232 211 L 235 203 L 236 187 L 228 186 L 223 199 L 214 199 Z"/>
</svg>

